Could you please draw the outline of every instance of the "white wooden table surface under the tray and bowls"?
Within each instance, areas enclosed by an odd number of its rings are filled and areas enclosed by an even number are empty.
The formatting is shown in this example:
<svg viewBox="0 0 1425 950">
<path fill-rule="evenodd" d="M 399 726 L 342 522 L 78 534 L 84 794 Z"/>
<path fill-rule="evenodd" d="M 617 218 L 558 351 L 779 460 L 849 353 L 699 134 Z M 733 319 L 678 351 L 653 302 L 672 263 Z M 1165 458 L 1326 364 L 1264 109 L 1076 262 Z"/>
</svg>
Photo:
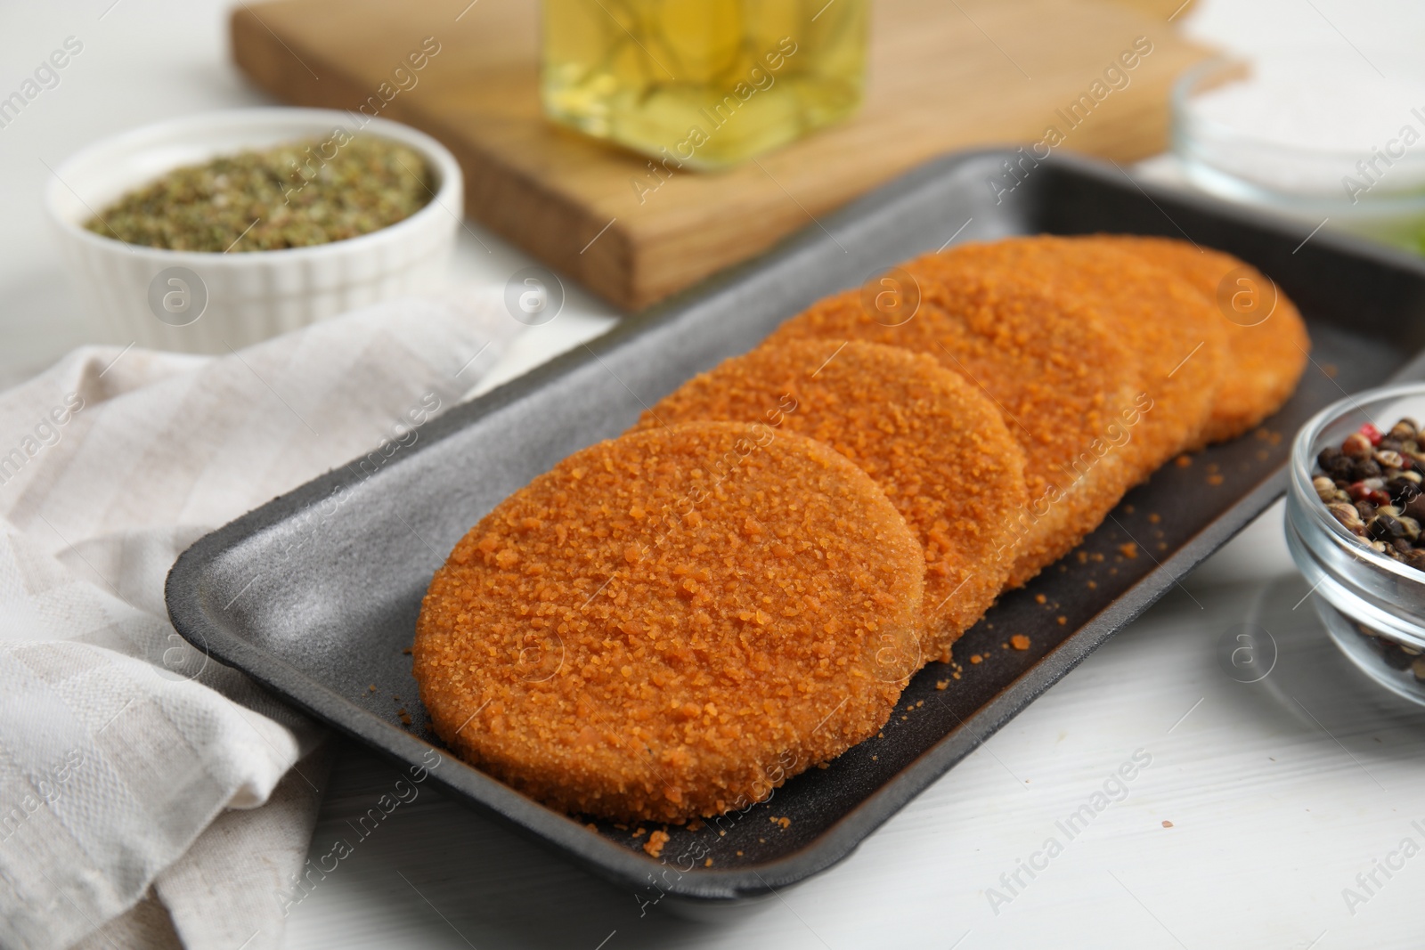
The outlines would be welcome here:
<svg viewBox="0 0 1425 950">
<path fill-rule="evenodd" d="M 1298 43 L 1338 58 L 1361 47 L 1374 58 L 1371 44 L 1382 36 L 1411 40 L 1416 51 L 1421 40 L 1419 13 L 1401 3 L 1374 4 L 1369 21 L 1347 0 L 1200 6 L 1190 27 L 1245 51 Z M 93 0 L 0 9 L 0 95 L 67 36 L 84 43 L 60 84 L 0 128 L 0 386 L 101 340 L 46 235 L 44 165 L 142 122 L 264 101 L 227 63 L 222 7 Z M 503 282 L 527 263 L 470 228 L 493 252 L 465 235 L 459 276 Z M 564 313 L 526 336 L 500 377 L 610 322 L 607 309 L 571 288 Z M 1281 541 L 1280 507 L 1184 578 L 1184 588 L 841 866 L 754 907 L 703 922 L 664 907 L 644 914 L 633 894 L 423 792 L 295 909 L 288 944 L 1425 944 L 1425 853 L 1416 853 L 1425 849 L 1425 711 L 1365 681 L 1327 641 L 1310 600 L 1298 605 L 1307 591 Z M 1234 681 L 1217 661 L 1220 640 L 1243 622 L 1268 630 L 1278 647 L 1271 675 L 1257 684 Z M 1150 759 L 1147 768 L 1069 840 L 1059 822 L 1134 755 Z M 346 819 L 393 781 L 389 766 L 345 746 L 314 853 L 351 836 Z M 1053 857 L 1045 853 L 1050 837 L 1062 846 Z M 1406 839 L 1408 859 L 1399 852 Z M 1033 877 L 1022 860 L 1040 867 Z M 1377 865 L 1385 860 L 1399 867 L 1389 877 Z M 1351 906 L 1347 889 L 1358 897 Z"/>
</svg>

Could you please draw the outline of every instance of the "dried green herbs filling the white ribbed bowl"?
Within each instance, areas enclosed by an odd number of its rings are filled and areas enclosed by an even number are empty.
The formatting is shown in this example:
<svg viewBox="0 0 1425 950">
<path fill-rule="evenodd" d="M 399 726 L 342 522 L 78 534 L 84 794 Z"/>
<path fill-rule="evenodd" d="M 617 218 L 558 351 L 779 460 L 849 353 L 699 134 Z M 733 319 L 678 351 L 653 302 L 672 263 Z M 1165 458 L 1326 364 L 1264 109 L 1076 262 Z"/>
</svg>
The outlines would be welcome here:
<svg viewBox="0 0 1425 950">
<path fill-rule="evenodd" d="M 425 208 L 435 175 L 420 152 L 338 130 L 325 141 L 177 168 L 84 226 L 172 251 L 276 251 L 343 241 Z"/>
</svg>

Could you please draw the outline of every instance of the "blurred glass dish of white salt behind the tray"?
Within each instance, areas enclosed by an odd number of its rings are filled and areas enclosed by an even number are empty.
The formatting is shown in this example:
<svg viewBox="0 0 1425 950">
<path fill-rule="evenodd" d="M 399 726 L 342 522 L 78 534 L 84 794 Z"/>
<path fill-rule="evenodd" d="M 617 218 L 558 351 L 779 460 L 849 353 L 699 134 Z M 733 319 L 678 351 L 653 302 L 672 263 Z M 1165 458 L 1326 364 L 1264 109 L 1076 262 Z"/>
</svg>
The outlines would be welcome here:
<svg viewBox="0 0 1425 950">
<path fill-rule="evenodd" d="M 1307 57 L 1210 60 L 1178 78 L 1171 108 L 1198 188 L 1425 249 L 1425 83 Z"/>
</svg>

